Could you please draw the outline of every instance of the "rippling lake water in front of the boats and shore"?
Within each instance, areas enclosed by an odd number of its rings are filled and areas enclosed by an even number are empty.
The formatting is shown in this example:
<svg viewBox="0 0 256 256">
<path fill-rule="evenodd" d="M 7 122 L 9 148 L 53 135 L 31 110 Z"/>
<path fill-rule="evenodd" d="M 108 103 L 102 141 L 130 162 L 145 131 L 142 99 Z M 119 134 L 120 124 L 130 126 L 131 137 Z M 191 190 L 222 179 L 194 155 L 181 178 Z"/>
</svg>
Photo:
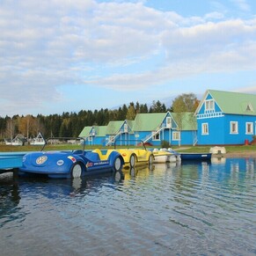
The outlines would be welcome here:
<svg viewBox="0 0 256 256">
<path fill-rule="evenodd" d="M 256 159 L 122 174 L 1 174 L 0 255 L 256 255 Z"/>
</svg>

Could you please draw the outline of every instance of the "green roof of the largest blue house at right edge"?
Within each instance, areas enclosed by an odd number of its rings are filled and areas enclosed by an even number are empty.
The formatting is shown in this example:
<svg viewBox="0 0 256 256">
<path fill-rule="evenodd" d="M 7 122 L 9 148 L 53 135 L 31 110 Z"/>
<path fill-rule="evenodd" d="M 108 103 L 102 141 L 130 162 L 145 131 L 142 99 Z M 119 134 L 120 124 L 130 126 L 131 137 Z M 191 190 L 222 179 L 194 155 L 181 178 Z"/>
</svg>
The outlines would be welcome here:
<svg viewBox="0 0 256 256">
<path fill-rule="evenodd" d="M 207 92 L 216 100 L 223 113 L 256 115 L 255 94 L 215 90 Z"/>
</svg>

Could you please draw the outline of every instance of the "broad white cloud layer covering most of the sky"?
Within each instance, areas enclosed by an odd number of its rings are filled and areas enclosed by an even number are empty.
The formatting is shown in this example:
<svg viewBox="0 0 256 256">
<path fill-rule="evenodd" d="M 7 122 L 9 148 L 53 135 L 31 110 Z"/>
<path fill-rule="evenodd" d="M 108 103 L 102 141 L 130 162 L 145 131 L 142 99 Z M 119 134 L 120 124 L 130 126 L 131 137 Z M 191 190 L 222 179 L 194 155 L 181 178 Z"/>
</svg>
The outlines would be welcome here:
<svg viewBox="0 0 256 256">
<path fill-rule="evenodd" d="M 254 19 L 223 20 L 222 12 L 183 18 L 174 11 L 147 8 L 143 1 L 118 2 L 4 0 L 4 106 L 18 109 L 29 102 L 42 106 L 61 100 L 63 85 L 135 91 L 202 71 L 255 69 Z M 236 4 L 245 10 L 245 1 Z M 140 69 L 157 58 L 156 66 Z M 13 91 L 22 97 L 12 101 Z"/>
</svg>

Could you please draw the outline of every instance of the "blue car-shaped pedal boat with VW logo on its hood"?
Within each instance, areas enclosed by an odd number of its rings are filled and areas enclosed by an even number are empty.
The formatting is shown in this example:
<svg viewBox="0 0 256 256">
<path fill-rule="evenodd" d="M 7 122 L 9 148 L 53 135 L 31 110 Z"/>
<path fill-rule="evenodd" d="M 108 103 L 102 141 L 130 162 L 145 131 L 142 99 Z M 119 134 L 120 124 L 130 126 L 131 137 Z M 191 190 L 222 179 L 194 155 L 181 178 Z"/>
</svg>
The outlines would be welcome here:
<svg viewBox="0 0 256 256">
<path fill-rule="evenodd" d="M 41 151 L 30 152 L 23 157 L 18 174 L 22 176 L 43 174 L 48 178 L 77 178 L 121 171 L 123 165 L 123 157 L 115 150 L 106 150 L 103 154 L 101 150 L 84 150 L 84 148 L 83 150 L 45 151 L 43 147 Z"/>
</svg>

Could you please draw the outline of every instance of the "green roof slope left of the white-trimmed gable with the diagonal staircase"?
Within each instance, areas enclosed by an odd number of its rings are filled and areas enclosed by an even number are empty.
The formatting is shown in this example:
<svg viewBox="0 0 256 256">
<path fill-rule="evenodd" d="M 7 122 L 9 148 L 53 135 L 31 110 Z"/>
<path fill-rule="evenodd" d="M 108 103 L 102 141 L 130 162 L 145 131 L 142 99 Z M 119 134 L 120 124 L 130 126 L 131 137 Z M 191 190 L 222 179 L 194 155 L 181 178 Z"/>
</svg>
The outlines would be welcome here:
<svg viewBox="0 0 256 256">
<path fill-rule="evenodd" d="M 167 113 L 137 113 L 133 131 L 154 131 L 159 128 Z"/>
</svg>

